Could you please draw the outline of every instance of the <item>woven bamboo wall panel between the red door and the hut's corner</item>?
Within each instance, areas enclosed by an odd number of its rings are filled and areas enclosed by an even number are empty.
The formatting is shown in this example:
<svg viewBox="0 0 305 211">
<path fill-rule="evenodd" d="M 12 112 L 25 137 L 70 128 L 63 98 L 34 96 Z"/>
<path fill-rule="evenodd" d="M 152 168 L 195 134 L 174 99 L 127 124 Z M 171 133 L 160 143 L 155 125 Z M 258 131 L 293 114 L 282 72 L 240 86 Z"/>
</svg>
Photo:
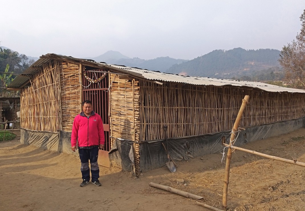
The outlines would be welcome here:
<svg viewBox="0 0 305 211">
<path fill-rule="evenodd" d="M 110 136 L 139 141 L 138 81 L 119 79 L 111 74 Z M 111 143 L 112 145 L 112 143 Z M 139 144 L 134 143 L 135 171 L 139 175 Z"/>
</svg>

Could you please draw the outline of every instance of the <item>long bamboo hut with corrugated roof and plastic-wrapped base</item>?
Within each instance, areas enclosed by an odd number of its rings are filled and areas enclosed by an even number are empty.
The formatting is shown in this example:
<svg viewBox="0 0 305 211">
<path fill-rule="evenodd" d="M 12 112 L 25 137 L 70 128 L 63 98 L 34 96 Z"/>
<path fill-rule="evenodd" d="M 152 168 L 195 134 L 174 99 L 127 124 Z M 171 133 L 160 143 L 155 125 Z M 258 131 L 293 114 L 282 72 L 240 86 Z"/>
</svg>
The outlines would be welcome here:
<svg viewBox="0 0 305 211">
<path fill-rule="evenodd" d="M 174 160 L 220 152 L 245 95 L 250 96 L 235 145 L 288 133 L 305 124 L 305 90 L 249 81 L 179 76 L 42 55 L 9 89 L 20 90 L 21 141 L 72 153 L 70 136 L 81 102 L 104 121 L 100 163 L 135 175 L 165 165 L 167 126 Z"/>
</svg>

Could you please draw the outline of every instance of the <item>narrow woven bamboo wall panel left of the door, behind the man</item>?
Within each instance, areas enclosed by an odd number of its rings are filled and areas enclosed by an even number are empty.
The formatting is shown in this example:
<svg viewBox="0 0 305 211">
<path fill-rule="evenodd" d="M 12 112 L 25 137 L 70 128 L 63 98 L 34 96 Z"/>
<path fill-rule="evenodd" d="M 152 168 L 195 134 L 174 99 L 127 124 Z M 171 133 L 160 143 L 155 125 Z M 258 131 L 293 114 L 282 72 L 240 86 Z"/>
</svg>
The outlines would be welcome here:
<svg viewBox="0 0 305 211">
<path fill-rule="evenodd" d="M 79 66 L 62 62 L 60 68 L 63 131 L 72 131 L 74 117 L 81 113 Z"/>
</svg>

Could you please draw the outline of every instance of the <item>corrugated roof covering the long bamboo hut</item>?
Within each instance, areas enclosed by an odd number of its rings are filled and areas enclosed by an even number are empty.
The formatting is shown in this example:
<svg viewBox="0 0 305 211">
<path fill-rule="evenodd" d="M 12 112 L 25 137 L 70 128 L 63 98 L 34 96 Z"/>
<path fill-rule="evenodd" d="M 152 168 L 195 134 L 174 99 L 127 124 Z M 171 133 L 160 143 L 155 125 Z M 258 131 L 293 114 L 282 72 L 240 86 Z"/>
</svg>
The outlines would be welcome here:
<svg viewBox="0 0 305 211">
<path fill-rule="evenodd" d="M 191 76 L 180 76 L 170 73 L 161 73 L 159 71 L 150 71 L 150 70 L 143 70 L 136 67 L 126 67 L 120 65 L 113 65 L 113 64 L 106 64 L 106 63 L 97 63 L 91 60 L 86 59 L 77 59 L 70 56 L 62 56 L 57 54 L 47 54 L 43 55 L 40 59 L 38 59 L 34 64 L 32 64 L 27 70 L 25 70 L 24 74 L 31 74 L 36 72 L 38 69 L 41 68 L 42 64 L 48 62 L 50 59 L 68 59 L 73 60 L 75 62 L 82 62 L 87 63 L 88 66 L 90 64 L 95 66 L 100 66 L 101 68 L 109 68 L 120 70 L 123 73 L 127 73 L 130 75 L 134 75 L 136 77 L 145 78 L 147 80 L 153 81 L 168 81 L 168 82 L 175 82 L 175 83 L 185 83 L 185 84 L 193 84 L 199 86 L 236 86 L 236 87 L 244 87 L 244 88 L 255 88 L 264 91 L 270 92 L 291 92 L 291 93 L 305 93 L 303 89 L 292 89 L 292 88 L 285 88 L 280 86 L 275 86 L 271 84 L 265 84 L 260 82 L 251 82 L 251 81 L 238 81 L 238 80 L 227 80 L 227 79 L 217 79 L 217 78 L 208 78 L 208 77 L 191 77 Z M 9 85 L 9 88 L 22 88 L 29 82 L 29 78 L 25 76 L 17 76 Z"/>
</svg>

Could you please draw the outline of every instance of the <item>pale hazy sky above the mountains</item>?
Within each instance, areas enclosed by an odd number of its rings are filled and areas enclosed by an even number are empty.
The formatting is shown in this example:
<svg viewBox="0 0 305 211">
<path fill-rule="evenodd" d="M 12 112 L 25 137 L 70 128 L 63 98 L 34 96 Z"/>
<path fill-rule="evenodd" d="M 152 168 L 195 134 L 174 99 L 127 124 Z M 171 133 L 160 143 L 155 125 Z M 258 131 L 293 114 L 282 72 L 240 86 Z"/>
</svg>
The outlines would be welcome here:
<svg viewBox="0 0 305 211">
<path fill-rule="evenodd" d="M 215 49 L 281 50 L 304 0 L 0 0 L 0 45 L 39 57 L 194 59 Z"/>
</svg>

